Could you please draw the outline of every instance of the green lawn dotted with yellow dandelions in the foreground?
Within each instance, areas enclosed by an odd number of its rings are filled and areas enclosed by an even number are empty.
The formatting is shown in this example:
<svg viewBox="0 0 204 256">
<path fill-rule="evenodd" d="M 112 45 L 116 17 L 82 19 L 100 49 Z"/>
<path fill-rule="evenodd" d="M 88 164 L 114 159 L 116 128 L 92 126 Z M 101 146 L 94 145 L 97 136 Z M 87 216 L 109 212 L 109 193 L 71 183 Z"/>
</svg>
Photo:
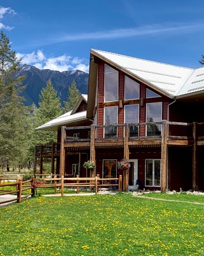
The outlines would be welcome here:
<svg viewBox="0 0 204 256">
<path fill-rule="evenodd" d="M 204 204 L 177 195 L 170 199 Z M 0 207 L 0 256 L 204 255 L 203 209 L 131 193 L 36 196 Z"/>
</svg>

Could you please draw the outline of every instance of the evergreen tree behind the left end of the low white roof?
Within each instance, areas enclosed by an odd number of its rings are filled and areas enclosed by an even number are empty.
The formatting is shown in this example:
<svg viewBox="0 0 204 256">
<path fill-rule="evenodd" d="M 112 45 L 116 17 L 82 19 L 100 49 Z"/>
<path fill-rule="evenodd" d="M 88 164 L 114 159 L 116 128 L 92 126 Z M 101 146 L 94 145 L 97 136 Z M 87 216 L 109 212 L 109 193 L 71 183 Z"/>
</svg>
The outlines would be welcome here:
<svg viewBox="0 0 204 256">
<path fill-rule="evenodd" d="M 60 99 L 57 97 L 57 91 L 54 89 L 50 80 L 47 81 L 46 88 L 41 90 L 39 106 L 40 107 L 34 111 L 36 127 L 62 115 Z M 36 131 L 34 138 L 36 145 L 52 143 L 57 141 L 57 132 Z"/>
</svg>

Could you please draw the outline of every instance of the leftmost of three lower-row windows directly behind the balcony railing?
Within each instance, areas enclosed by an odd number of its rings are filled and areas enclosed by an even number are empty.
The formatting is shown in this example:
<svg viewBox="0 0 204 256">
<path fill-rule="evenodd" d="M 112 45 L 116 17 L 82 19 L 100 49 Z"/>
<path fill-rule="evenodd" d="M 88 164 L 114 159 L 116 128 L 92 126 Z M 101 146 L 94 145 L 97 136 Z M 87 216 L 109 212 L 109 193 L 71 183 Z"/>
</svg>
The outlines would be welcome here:
<svg viewBox="0 0 204 256">
<path fill-rule="evenodd" d="M 117 106 L 104 108 L 104 125 L 117 124 Z M 117 137 L 117 127 L 110 126 L 105 128 L 105 138 Z"/>
</svg>

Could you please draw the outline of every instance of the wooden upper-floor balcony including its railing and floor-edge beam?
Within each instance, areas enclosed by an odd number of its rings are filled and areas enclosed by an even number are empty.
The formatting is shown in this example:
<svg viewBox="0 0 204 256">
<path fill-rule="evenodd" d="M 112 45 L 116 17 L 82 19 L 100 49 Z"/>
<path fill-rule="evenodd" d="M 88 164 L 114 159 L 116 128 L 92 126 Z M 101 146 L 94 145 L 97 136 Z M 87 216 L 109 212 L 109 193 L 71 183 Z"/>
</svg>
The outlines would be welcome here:
<svg viewBox="0 0 204 256">
<path fill-rule="evenodd" d="M 165 124 L 165 125 L 164 125 Z M 161 145 L 165 134 L 167 145 L 204 145 L 204 123 L 152 122 L 140 124 L 91 125 L 63 127 L 64 147 L 96 148 Z M 198 134 L 199 136 L 196 136 Z"/>
</svg>

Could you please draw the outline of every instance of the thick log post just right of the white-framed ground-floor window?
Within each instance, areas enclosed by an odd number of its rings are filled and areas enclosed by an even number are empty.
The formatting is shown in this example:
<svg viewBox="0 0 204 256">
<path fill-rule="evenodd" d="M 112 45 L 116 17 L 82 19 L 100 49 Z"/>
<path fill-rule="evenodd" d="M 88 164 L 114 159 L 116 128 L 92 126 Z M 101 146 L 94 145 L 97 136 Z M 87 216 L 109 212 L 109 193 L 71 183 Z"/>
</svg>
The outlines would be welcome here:
<svg viewBox="0 0 204 256">
<path fill-rule="evenodd" d="M 163 120 L 161 131 L 161 192 L 166 191 L 167 186 L 167 121 Z"/>
</svg>

